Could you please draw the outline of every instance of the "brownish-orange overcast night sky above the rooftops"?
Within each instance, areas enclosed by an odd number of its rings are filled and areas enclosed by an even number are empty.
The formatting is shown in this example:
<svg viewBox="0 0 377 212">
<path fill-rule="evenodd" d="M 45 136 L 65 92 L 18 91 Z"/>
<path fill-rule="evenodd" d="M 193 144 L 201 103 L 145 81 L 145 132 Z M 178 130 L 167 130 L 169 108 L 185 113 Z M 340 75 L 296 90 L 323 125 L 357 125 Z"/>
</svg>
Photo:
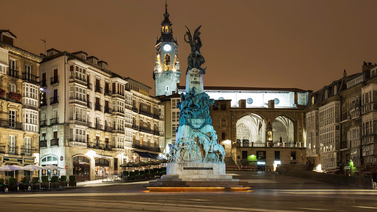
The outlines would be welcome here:
<svg viewBox="0 0 377 212">
<path fill-rule="evenodd" d="M 150 87 L 165 0 L 2 1 L 0 28 L 15 46 L 85 51 Z M 363 61 L 377 63 L 377 1 L 168 1 L 183 75 L 190 46 L 185 25 L 200 25 L 205 86 L 319 90 Z M 185 76 L 181 77 L 181 85 Z"/>
</svg>

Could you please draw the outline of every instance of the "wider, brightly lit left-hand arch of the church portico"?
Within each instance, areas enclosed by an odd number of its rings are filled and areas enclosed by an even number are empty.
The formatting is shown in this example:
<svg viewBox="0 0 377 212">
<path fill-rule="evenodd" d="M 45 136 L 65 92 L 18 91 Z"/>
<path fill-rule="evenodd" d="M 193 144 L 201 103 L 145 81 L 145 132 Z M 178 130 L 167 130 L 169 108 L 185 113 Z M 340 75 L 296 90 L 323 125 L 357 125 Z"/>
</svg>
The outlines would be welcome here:
<svg viewBox="0 0 377 212">
<path fill-rule="evenodd" d="M 255 113 L 245 115 L 236 123 L 236 146 L 264 147 L 266 122 Z"/>
</svg>

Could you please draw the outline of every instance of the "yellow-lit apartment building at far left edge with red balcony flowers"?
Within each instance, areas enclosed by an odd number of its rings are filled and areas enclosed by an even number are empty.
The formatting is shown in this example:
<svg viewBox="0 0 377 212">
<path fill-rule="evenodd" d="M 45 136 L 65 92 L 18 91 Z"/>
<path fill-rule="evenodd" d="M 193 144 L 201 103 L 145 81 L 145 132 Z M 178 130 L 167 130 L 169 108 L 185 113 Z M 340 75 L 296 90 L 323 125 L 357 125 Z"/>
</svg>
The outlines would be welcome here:
<svg viewBox="0 0 377 212">
<path fill-rule="evenodd" d="M 0 30 L 0 166 L 39 163 L 39 62 L 15 46 L 16 35 Z M 29 171 L 11 173 L 19 181 Z M 30 176 L 28 176 L 30 177 Z M 0 178 L 5 178 L 0 172 Z"/>
</svg>

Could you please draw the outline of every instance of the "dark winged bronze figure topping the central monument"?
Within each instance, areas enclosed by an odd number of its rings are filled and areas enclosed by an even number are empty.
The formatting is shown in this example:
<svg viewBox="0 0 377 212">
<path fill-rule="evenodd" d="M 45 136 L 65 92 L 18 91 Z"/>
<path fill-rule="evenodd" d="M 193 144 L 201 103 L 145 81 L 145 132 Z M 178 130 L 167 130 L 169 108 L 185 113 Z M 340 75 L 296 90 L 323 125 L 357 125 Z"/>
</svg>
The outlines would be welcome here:
<svg viewBox="0 0 377 212">
<path fill-rule="evenodd" d="M 200 39 L 200 36 L 199 36 L 201 34 L 199 32 L 199 29 L 201 27 L 202 27 L 202 25 L 195 29 L 193 37 L 191 36 L 190 30 L 186 27 L 188 32 L 186 32 L 186 34 L 184 36 L 185 42 L 190 44 L 190 46 L 191 46 L 191 53 L 187 57 L 188 67 L 187 67 L 186 74 L 192 68 L 197 68 L 197 69 L 200 70 L 201 74 L 206 74 L 207 67 L 205 67 L 205 68 L 201 67 L 203 65 L 203 63 L 206 62 L 204 60 L 203 55 L 200 53 L 200 48 L 202 47 L 202 40 Z M 186 35 L 188 37 L 188 41 L 186 40 Z"/>
</svg>

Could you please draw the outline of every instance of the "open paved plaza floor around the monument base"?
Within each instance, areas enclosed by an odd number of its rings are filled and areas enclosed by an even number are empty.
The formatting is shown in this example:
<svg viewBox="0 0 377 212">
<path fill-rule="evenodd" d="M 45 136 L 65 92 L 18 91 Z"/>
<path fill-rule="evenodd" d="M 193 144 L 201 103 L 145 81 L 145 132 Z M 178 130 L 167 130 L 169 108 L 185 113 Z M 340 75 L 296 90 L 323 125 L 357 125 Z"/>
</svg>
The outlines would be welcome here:
<svg viewBox="0 0 377 212">
<path fill-rule="evenodd" d="M 78 182 L 76 188 L 0 194 L 2 211 L 377 211 L 377 190 L 234 171 L 255 187 L 241 192 L 149 192 L 148 181 Z"/>
</svg>

